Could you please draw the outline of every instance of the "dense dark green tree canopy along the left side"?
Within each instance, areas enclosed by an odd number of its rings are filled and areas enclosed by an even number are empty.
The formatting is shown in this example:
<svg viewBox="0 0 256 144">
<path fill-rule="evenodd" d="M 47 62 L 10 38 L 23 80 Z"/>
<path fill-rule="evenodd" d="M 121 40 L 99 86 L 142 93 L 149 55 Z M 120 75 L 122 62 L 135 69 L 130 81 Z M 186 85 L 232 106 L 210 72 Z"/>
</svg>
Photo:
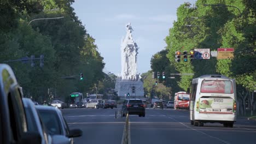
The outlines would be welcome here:
<svg viewBox="0 0 256 144">
<path fill-rule="evenodd" d="M 75 15 L 73 2 L 9 0 L 0 3 L 0 61 L 44 55 L 42 68 L 37 60 L 34 67 L 30 61 L 8 63 L 26 97 L 42 101 L 55 95 L 64 99 L 71 92 L 90 91 L 104 78 L 103 58 L 94 38 Z M 64 18 L 32 21 L 52 17 Z M 84 75 L 83 81 L 79 81 L 80 73 Z M 75 79 L 61 79 L 74 75 Z"/>
</svg>

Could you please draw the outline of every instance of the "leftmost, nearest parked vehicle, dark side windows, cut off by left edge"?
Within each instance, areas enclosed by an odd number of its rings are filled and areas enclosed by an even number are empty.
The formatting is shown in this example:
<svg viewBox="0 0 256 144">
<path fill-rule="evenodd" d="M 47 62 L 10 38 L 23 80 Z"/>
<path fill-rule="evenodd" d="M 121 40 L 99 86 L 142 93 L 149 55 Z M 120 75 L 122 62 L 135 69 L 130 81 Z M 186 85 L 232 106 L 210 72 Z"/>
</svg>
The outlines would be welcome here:
<svg viewBox="0 0 256 144">
<path fill-rule="evenodd" d="M 13 70 L 0 64 L 0 143 L 41 143 L 37 131 L 28 131 L 28 122 L 22 103 L 22 89 Z"/>
</svg>

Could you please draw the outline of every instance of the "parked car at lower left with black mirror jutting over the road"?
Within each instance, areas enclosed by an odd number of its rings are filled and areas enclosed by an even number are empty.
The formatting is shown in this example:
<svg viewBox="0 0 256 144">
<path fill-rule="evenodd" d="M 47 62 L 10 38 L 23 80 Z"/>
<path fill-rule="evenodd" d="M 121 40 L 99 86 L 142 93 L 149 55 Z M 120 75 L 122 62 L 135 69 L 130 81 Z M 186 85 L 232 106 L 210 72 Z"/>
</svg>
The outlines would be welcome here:
<svg viewBox="0 0 256 144">
<path fill-rule="evenodd" d="M 71 144 L 74 143 L 73 137 L 82 136 L 83 132 L 80 129 L 69 130 L 68 125 L 59 109 L 55 109 L 51 106 L 40 105 L 36 106 L 36 109 L 38 110 L 39 115 L 42 118 L 42 121 L 51 136 L 65 136 L 65 138 L 63 138 L 63 141 L 68 141 L 68 143 Z M 53 140 L 53 143 L 55 142 L 56 141 Z"/>
</svg>

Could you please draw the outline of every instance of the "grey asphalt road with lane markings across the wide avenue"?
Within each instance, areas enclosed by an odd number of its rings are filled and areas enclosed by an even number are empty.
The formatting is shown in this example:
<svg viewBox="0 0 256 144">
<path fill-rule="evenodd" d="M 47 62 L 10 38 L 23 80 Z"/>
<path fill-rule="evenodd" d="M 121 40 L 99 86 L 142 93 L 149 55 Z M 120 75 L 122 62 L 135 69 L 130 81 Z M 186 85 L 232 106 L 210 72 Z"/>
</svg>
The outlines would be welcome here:
<svg viewBox="0 0 256 144">
<path fill-rule="evenodd" d="M 118 109 L 64 109 L 69 129 L 80 128 L 75 143 L 121 143 L 125 117 L 115 118 Z M 256 121 L 237 118 L 234 128 L 206 123 L 190 125 L 186 110 L 146 109 L 146 117 L 130 115 L 131 143 L 256 143 Z"/>
</svg>

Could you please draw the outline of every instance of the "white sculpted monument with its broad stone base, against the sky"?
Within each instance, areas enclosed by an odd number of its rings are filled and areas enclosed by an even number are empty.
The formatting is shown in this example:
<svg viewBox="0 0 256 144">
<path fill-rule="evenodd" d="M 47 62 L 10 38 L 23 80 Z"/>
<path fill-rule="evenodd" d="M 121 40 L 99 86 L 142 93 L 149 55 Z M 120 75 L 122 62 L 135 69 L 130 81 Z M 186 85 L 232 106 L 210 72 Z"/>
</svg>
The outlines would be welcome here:
<svg viewBox="0 0 256 144">
<path fill-rule="evenodd" d="M 129 22 L 126 25 L 126 36 L 121 44 L 121 75 L 115 83 L 115 91 L 121 99 L 144 97 L 143 82 L 140 80 L 141 76 L 137 74 L 138 45 L 132 38 L 132 31 Z"/>
</svg>

